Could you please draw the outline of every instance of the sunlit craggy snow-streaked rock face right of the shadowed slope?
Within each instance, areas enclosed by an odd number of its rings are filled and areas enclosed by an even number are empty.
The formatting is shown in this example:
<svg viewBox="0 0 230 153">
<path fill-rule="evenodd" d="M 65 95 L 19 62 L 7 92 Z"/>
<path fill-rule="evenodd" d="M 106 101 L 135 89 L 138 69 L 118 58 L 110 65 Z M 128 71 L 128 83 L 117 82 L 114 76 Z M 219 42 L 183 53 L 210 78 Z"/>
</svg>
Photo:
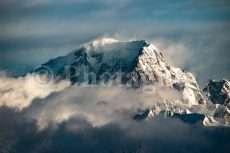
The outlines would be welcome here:
<svg viewBox="0 0 230 153">
<path fill-rule="evenodd" d="M 199 89 L 195 77 L 179 68 L 171 67 L 163 58 L 162 53 L 152 44 L 146 44 L 138 57 L 136 71 L 143 82 L 160 82 L 171 86 L 173 83 L 184 83 Z"/>
</svg>

